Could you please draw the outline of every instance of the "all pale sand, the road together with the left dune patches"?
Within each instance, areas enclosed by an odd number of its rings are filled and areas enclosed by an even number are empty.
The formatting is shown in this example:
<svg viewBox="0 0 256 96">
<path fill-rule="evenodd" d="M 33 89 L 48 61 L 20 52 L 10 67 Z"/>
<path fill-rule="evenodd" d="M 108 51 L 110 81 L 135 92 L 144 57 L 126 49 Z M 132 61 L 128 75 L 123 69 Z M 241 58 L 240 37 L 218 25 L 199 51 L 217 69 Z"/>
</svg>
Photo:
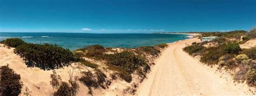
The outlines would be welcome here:
<svg viewBox="0 0 256 96">
<path fill-rule="evenodd" d="M 169 47 L 162 53 L 156 61 L 156 65 L 149 73 L 148 79 L 139 84 L 137 93 L 139 95 L 245 95 L 251 94 L 245 84 L 232 82 L 232 77 L 225 75 L 221 78 L 214 69 L 194 60 L 193 57 L 186 54 L 182 48 L 185 43 L 200 41 L 199 39 L 188 39 L 170 43 Z M 31 95 L 51 95 L 54 90 L 50 85 L 50 71 L 44 71 L 38 68 L 27 68 L 21 57 L 14 54 L 14 48 L 8 49 L 0 45 L 0 66 L 9 64 L 21 75 L 24 88 L 28 86 Z M 79 67 L 72 64 L 69 67 L 56 69 L 62 80 L 68 82 L 69 71 L 73 71 L 73 76 L 78 76 L 81 71 L 90 70 L 89 68 Z M 106 70 L 107 71 L 107 70 Z M 105 71 L 105 73 L 107 73 Z M 138 80 L 133 78 L 133 82 Z M 106 90 L 93 90 L 95 95 L 124 95 L 123 90 L 132 83 L 126 83 L 124 80 L 113 80 L 112 84 Z M 88 95 L 86 86 L 79 83 L 78 95 Z M 127 94 L 125 94 L 127 95 Z M 129 95 L 129 94 L 128 94 Z"/>
</svg>

